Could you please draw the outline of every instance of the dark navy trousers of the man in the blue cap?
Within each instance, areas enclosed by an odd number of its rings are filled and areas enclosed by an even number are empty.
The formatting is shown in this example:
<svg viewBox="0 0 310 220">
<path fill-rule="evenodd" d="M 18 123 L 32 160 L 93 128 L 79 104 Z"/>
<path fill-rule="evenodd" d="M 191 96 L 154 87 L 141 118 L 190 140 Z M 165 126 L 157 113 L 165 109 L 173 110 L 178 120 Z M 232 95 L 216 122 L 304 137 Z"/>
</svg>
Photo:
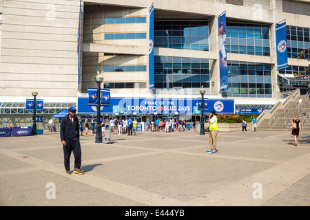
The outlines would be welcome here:
<svg viewBox="0 0 310 220">
<path fill-rule="evenodd" d="M 65 157 L 65 170 L 70 170 L 70 156 L 71 156 L 71 152 L 73 151 L 73 155 L 74 155 L 74 168 L 81 168 L 81 157 L 82 157 L 82 153 L 81 153 L 81 144 L 80 144 L 80 140 L 76 139 L 76 140 L 65 140 L 65 143 L 67 145 L 63 146 L 63 155 Z"/>
</svg>

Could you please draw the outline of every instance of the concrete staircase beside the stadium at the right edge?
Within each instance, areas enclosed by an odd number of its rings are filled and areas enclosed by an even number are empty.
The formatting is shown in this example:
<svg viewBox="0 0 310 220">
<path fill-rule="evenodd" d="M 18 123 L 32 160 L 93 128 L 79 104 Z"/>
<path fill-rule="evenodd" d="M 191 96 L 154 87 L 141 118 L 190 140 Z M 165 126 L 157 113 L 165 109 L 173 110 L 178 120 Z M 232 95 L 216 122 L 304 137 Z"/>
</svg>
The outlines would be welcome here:
<svg viewBox="0 0 310 220">
<path fill-rule="evenodd" d="M 291 121 L 295 118 L 295 115 L 298 115 L 300 122 L 302 122 L 308 113 L 307 121 L 304 121 L 302 131 L 310 131 L 309 96 L 302 96 L 302 102 L 302 109 L 298 109 L 296 100 L 289 102 L 284 109 L 276 109 L 272 117 L 262 119 L 260 124 L 258 124 L 258 130 L 290 131 Z"/>
</svg>

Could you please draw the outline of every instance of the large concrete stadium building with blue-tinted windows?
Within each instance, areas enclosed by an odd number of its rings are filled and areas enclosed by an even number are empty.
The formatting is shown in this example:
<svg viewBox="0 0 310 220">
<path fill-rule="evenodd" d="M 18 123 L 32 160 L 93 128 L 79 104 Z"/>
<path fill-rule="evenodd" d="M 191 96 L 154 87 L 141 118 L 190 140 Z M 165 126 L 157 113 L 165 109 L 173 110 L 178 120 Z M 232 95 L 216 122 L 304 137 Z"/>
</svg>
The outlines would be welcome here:
<svg viewBox="0 0 310 220">
<path fill-rule="evenodd" d="M 97 72 L 112 98 L 103 115 L 196 122 L 201 87 L 209 110 L 219 102 L 229 107 L 218 105 L 222 113 L 271 109 L 282 92 L 308 91 L 309 21 L 307 0 L 0 1 L 0 126 L 32 121 L 32 91 L 44 103 L 39 126 L 72 105 L 96 115 L 87 88 L 96 87 Z M 288 66 L 278 69 L 281 23 Z"/>
</svg>

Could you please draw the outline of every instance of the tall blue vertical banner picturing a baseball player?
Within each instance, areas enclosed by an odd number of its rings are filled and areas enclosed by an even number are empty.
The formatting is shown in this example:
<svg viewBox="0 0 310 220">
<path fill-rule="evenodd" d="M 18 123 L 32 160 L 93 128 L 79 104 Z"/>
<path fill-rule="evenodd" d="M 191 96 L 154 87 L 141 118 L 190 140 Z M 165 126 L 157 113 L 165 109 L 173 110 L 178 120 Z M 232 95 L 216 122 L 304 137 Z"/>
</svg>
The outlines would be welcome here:
<svg viewBox="0 0 310 220">
<path fill-rule="evenodd" d="M 226 13 L 218 17 L 218 46 L 220 53 L 220 91 L 227 91 Z"/>
</svg>

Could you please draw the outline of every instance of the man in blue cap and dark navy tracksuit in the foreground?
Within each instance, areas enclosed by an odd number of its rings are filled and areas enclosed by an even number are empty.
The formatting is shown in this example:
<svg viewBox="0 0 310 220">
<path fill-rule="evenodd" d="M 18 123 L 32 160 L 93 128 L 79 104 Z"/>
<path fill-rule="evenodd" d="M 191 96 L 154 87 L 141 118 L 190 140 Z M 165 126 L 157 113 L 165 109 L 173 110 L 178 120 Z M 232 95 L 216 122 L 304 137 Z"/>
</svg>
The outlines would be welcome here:
<svg viewBox="0 0 310 220">
<path fill-rule="evenodd" d="M 70 172 L 70 155 L 74 155 L 74 173 L 84 174 L 81 170 L 81 144 L 79 140 L 79 120 L 76 118 L 76 108 L 70 107 L 69 114 L 61 121 L 60 137 L 63 144 L 63 155 L 65 161 L 65 173 Z"/>
</svg>

